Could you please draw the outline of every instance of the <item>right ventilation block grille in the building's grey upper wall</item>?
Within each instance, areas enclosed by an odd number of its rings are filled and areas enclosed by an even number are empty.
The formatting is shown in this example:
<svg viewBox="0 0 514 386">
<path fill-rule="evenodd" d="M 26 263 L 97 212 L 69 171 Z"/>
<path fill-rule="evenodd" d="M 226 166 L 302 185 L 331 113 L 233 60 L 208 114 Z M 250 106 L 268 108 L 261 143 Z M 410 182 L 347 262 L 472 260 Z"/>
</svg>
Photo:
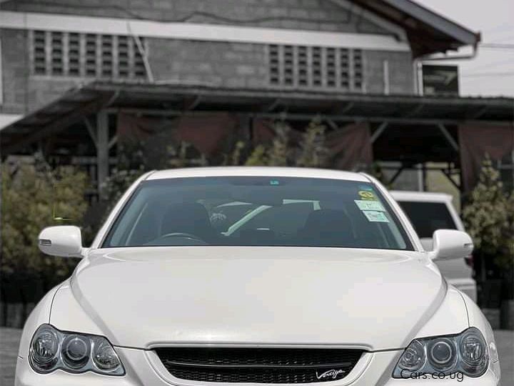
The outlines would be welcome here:
<svg viewBox="0 0 514 386">
<path fill-rule="evenodd" d="M 268 46 L 272 86 L 363 92 L 363 52 L 316 46 Z"/>
</svg>

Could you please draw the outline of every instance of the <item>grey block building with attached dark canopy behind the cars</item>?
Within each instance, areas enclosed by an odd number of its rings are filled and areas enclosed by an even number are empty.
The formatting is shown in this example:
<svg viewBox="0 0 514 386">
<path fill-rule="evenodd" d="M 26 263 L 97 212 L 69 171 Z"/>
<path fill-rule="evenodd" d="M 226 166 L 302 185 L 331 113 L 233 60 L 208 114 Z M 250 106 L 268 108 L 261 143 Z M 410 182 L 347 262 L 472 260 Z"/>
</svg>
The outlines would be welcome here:
<svg viewBox="0 0 514 386">
<path fill-rule="evenodd" d="M 101 182 L 126 136 L 173 127 L 209 153 L 321 117 L 336 167 L 442 162 L 465 192 L 487 152 L 513 178 L 513 99 L 422 95 L 427 56 L 480 35 L 410 0 L 4 0 L 0 39 L 3 158 Z"/>
</svg>

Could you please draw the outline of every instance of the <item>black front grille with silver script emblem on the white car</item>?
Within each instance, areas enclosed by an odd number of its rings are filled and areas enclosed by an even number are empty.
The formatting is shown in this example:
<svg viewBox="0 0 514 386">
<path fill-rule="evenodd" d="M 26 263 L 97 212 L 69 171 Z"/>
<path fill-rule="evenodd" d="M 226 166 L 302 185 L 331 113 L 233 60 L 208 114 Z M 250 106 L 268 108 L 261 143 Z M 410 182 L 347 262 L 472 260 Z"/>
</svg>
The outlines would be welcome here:
<svg viewBox="0 0 514 386">
<path fill-rule="evenodd" d="M 313 383 L 341 380 L 363 350 L 165 347 L 155 350 L 173 377 L 197 382 Z"/>
</svg>

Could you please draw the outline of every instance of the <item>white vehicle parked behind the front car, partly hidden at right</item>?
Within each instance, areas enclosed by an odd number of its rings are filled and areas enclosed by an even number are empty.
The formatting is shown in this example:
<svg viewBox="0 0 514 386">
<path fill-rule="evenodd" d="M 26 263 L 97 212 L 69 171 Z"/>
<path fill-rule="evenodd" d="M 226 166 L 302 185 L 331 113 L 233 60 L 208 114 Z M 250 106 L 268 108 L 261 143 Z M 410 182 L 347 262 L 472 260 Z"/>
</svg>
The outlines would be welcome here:
<svg viewBox="0 0 514 386">
<path fill-rule="evenodd" d="M 432 235 L 437 229 L 457 229 L 464 231 L 450 194 L 433 192 L 401 192 L 390 194 L 400 204 L 420 237 L 425 250 L 433 248 Z M 450 284 L 460 289 L 476 302 L 476 282 L 473 279 L 471 255 L 464 259 L 441 260 L 437 262 L 440 272 Z"/>
</svg>

